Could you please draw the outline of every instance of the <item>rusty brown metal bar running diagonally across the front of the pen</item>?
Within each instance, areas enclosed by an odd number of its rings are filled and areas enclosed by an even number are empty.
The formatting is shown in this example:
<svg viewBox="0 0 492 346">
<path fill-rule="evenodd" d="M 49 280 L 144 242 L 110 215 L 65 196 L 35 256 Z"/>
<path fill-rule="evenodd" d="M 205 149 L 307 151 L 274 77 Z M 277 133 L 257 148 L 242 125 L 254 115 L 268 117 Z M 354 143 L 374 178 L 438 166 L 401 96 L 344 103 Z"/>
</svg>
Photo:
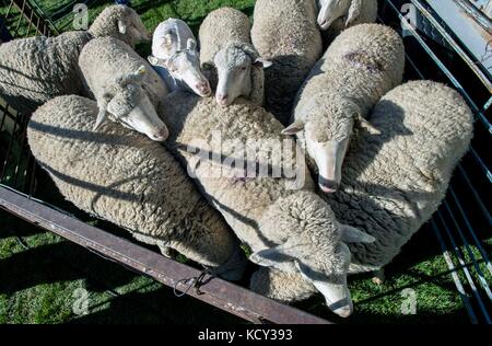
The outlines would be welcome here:
<svg viewBox="0 0 492 346">
<path fill-rule="evenodd" d="M 180 280 L 196 278 L 201 274 L 198 269 L 165 258 L 2 186 L 0 186 L 0 208 L 168 287 L 176 287 Z M 180 291 L 186 291 L 186 288 L 176 287 Z M 254 323 L 330 323 L 219 278 L 213 278 L 202 286 L 199 292 L 190 289 L 187 295 Z"/>
</svg>

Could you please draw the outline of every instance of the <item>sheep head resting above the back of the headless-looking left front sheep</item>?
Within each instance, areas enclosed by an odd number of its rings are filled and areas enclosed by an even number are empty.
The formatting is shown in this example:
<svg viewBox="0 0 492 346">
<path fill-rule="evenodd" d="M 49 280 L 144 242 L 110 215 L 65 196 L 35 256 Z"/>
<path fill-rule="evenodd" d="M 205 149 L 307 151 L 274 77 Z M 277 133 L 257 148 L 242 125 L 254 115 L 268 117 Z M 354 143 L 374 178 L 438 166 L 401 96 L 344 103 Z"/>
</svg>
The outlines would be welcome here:
<svg viewBox="0 0 492 346">
<path fill-rule="evenodd" d="M 134 73 L 116 79 L 105 94 L 98 97 L 99 113 L 94 130 L 107 119 L 109 114 L 125 127 L 144 134 L 152 140 L 167 139 L 168 130 L 141 85 L 144 73 L 145 68 L 141 66 Z"/>
</svg>

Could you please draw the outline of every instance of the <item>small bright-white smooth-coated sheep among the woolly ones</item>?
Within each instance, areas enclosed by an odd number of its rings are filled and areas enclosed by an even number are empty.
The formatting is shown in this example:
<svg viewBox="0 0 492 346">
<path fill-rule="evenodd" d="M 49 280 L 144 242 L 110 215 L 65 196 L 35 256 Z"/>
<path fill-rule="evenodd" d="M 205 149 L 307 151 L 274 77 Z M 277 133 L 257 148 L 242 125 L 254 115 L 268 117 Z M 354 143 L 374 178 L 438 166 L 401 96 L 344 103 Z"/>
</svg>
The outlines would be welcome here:
<svg viewBox="0 0 492 346">
<path fill-rule="evenodd" d="M 168 19 L 159 24 L 148 59 L 169 92 L 189 90 L 203 97 L 210 95 L 209 81 L 200 70 L 197 39 L 184 21 Z"/>
</svg>

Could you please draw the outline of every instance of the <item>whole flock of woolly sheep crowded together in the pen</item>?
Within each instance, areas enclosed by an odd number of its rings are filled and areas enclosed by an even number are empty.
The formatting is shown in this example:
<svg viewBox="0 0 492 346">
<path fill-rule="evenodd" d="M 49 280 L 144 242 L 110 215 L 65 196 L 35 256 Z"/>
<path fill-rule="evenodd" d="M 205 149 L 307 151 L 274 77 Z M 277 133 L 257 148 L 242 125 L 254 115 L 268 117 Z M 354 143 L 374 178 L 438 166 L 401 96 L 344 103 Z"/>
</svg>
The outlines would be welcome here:
<svg viewBox="0 0 492 346">
<path fill-rule="evenodd" d="M 372 24 L 376 12 L 376 0 L 257 0 L 253 27 L 219 9 L 199 44 L 183 21 L 162 23 L 145 60 L 141 20 L 113 5 L 87 32 L 0 45 L 0 95 L 35 111 L 32 152 L 79 208 L 231 280 L 244 243 L 261 266 L 253 290 L 284 302 L 320 292 L 348 316 L 348 274 L 383 268 L 431 218 L 473 130 L 456 91 L 401 85 L 402 39 Z M 197 160 L 189 148 L 216 132 L 220 159 Z M 234 141 L 291 135 L 282 154 L 307 162 L 296 188 L 226 164 Z"/>
</svg>

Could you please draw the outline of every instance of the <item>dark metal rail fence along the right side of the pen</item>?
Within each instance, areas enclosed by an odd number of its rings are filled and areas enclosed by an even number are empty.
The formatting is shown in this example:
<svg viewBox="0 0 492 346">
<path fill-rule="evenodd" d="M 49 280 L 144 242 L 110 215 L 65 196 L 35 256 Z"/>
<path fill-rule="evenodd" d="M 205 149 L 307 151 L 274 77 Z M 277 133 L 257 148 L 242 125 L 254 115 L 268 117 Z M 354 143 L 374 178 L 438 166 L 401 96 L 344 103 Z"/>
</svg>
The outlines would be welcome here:
<svg viewBox="0 0 492 346">
<path fill-rule="evenodd" d="M 405 18 L 401 11 L 405 3 L 417 10 L 423 28 L 415 27 Z M 489 169 L 492 83 L 483 66 L 470 57 L 425 1 L 384 0 L 380 20 L 406 32 L 408 77 L 432 79 L 454 86 L 475 113 L 476 129 L 470 152 L 455 172 L 447 198 L 430 227 L 441 244 L 470 321 L 491 324 L 492 251 L 485 240 L 492 238 L 492 174 Z"/>
</svg>

